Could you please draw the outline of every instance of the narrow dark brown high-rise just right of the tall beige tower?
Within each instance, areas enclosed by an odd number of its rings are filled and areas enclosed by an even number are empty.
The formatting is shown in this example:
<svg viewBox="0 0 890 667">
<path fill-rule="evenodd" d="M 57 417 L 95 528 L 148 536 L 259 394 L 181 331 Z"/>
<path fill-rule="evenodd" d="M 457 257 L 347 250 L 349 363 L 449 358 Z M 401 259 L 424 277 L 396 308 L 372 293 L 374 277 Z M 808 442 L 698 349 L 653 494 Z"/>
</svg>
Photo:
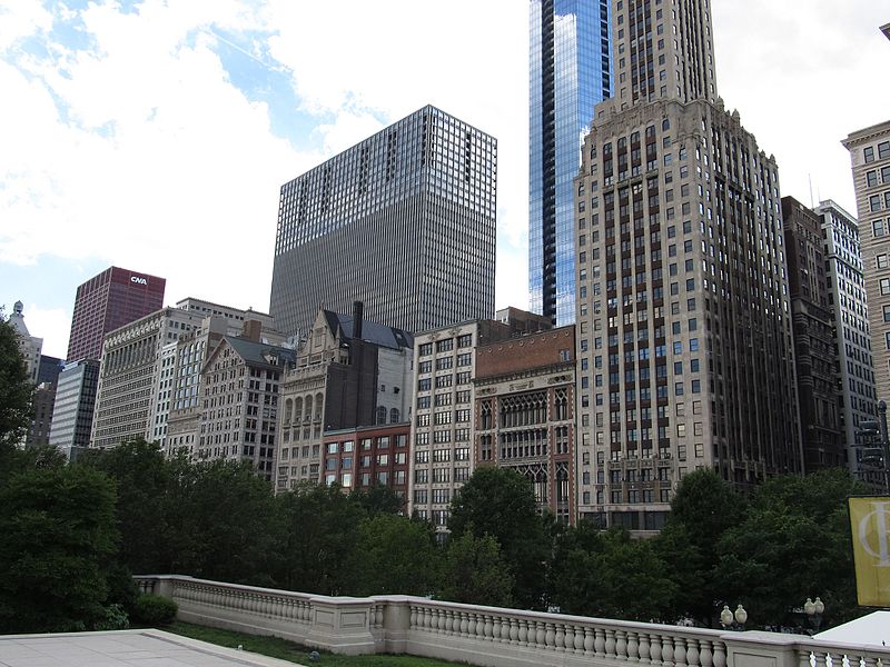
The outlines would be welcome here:
<svg viewBox="0 0 890 667">
<path fill-rule="evenodd" d="M 782 220 L 803 468 L 805 472 L 815 472 L 847 466 L 822 218 L 793 197 L 782 197 Z"/>
</svg>

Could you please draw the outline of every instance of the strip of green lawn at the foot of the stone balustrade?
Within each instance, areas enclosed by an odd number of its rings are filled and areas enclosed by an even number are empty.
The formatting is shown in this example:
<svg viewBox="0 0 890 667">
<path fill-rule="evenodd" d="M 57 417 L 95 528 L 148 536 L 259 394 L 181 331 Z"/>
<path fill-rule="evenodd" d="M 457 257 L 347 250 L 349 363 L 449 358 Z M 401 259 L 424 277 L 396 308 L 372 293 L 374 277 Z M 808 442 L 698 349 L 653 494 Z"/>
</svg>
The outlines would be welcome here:
<svg viewBox="0 0 890 667">
<path fill-rule="evenodd" d="M 161 629 L 182 635 L 184 637 L 200 639 L 208 644 L 216 644 L 217 646 L 238 648 L 240 645 L 244 647 L 244 650 L 258 653 L 264 656 L 269 656 L 270 658 L 300 663 L 303 665 L 318 665 L 319 667 L 445 667 L 446 665 L 457 665 L 457 663 L 446 663 L 444 660 L 417 658 L 414 656 L 337 656 L 324 651 L 319 651 L 322 654 L 320 659 L 309 660 L 309 651 L 313 650 L 312 648 L 287 641 L 286 639 L 278 639 L 277 637 L 244 635 L 241 633 L 233 633 L 231 630 L 206 628 L 204 626 L 196 626 L 178 620 L 171 626 Z"/>
</svg>

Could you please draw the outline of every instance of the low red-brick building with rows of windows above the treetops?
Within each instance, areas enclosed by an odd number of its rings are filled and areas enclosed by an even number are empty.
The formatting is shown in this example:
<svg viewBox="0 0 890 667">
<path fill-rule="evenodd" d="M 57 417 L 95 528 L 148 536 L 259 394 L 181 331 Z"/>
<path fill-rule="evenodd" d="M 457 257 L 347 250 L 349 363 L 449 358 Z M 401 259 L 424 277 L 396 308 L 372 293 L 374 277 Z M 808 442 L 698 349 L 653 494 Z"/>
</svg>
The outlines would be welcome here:
<svg viewBox="0 0 890 667">
<path fill-rule="evenodd" d="M 322 461 L 325 484 L 345 490 L 382 485 L 399 498 L 408 492 L 408 436 L 411 422 L 327 431 Z"/>
</svg>

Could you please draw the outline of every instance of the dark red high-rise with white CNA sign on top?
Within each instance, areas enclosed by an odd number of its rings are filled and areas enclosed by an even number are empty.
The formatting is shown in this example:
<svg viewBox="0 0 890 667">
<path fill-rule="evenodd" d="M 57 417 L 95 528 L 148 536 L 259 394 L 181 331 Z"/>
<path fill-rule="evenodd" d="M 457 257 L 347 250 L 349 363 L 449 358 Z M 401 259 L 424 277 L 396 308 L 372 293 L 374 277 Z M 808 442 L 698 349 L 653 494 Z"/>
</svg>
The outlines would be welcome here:
<svg viewBox="0 0 890 667">
<path fill-rule="evenodd" d="M 164 307 L 165 278 L 110 267 L 77 288 L 68 360 L 99 359 L 113 331 Z"/>
</svg>

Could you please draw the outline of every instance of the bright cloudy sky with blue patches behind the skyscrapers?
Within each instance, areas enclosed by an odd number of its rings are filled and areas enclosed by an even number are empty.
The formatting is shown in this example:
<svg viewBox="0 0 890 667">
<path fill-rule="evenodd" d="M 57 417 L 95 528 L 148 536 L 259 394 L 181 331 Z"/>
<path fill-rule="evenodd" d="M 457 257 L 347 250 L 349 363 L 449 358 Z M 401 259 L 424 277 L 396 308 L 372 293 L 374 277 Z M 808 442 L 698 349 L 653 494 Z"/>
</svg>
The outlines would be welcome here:
<svg viewBox="0 0 890 667">
<path fill-rule="evenodd" d="M 712 0 L 718 92 L 783 195 L 856 215 L 890 0 Z M 267 311 L 279 188 L 432 103 L 498 140 L 496 305 L 527 306 L 525 0 L 0 0 L 0 306 L 65 357 L 109 266 Z"/>
</svg>

